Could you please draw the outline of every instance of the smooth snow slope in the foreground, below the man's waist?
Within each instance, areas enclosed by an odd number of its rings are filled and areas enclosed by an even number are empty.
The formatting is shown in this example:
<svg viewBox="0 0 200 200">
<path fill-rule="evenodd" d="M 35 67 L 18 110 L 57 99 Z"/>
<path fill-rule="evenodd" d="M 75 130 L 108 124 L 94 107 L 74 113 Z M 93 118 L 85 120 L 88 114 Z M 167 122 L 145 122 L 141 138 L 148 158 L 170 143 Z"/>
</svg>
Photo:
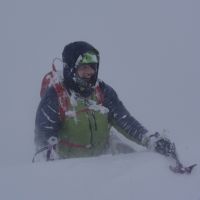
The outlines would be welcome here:
<svg viewBox="0 0 200 200">
<path fill-rule="evenodd" d="M 199 200 L 200 171 L 174 175 L 153 153 L 70 159 L 1 168 L 1 198 Z"/>
</svg>

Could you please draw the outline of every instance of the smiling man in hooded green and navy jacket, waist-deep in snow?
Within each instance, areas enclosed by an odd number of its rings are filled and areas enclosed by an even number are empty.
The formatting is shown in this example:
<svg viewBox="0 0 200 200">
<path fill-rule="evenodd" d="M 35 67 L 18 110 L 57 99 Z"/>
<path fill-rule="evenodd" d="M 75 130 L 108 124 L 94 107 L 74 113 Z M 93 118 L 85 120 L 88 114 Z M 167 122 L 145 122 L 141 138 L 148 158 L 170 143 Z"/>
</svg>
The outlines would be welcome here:
<svg viewBox="0 0 200 200">
<path fill-rule="evenodd" d="M 127 111 L 114 89 L 98 79 L 99 52 L 73 42 L 62 53 L 63 79 L 43 95 L 35 121 L 36 149 L 45 159 L 97 156 L 112 148 L 110 128 L 165 156 L 175 152 L 169 139 L 151 134 Z M 116 143 L 115 143 L 116 144 Z M 118 152 L 131 152 L 125 144 Z"/>
</svg>

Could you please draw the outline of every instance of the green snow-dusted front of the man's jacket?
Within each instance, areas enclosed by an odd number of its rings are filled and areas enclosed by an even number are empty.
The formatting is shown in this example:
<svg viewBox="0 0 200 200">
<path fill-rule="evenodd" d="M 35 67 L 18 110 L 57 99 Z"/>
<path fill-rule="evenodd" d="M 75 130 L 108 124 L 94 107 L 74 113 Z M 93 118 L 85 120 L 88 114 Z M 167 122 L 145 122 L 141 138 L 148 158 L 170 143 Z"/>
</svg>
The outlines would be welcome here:
<svg viewBox="0 0 200 200">
<path fill-rule="evenodd" d="M 60 157 L 96 156 L 106 149 L 110 132 L 108 109 L 99 103 L 97 91 L 87 99 L 68 96 L 68 109 L 59 131 Z"/>
</svg>

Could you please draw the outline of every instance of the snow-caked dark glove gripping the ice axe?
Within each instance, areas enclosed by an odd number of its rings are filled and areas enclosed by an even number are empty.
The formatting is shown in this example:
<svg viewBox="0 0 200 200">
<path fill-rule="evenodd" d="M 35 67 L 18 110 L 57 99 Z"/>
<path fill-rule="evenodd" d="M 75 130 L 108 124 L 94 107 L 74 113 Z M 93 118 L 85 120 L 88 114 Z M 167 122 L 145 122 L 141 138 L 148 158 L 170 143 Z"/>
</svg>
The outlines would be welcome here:
<svg viewBox="0 0 200 200">
<path fill-rule="evenodd" d="M 167 137 L 161 136 L 158 132 L 148 136 L 147 148 L 162 155 L 176 158 L 175 144 L 172 143 Z"/>
</svg>

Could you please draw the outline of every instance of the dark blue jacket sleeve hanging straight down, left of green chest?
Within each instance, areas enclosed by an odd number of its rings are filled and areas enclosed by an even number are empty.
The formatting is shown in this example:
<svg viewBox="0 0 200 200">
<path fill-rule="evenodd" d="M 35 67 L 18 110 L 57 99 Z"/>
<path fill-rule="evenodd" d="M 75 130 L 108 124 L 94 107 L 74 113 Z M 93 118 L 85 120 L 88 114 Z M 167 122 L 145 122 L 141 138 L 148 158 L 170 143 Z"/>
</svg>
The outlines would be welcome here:
<svg viewBox="0 0 200 200">
<path fill-rule="evenodd" d="M 47 145 L 51 136 L 58 136 L 61 128 L 59 104 L 54 88 L 49 88 L 41 99 L 35 119 L 35 144 L 41 148 Z"/>
</svg>

